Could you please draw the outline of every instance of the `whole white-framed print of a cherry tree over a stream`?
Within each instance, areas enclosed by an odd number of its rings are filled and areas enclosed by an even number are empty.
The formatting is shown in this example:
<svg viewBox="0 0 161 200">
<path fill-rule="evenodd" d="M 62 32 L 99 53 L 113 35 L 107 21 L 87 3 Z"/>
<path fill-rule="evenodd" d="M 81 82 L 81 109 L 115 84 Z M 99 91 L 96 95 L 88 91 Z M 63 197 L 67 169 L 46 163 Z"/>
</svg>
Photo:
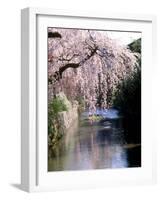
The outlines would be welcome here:
<svg viewBox="0 0 161 200">
<path fill-rule="evenodd" d="M 22 10 L 26 191 L 154 183 L 155 17 Z"/>
</svg>

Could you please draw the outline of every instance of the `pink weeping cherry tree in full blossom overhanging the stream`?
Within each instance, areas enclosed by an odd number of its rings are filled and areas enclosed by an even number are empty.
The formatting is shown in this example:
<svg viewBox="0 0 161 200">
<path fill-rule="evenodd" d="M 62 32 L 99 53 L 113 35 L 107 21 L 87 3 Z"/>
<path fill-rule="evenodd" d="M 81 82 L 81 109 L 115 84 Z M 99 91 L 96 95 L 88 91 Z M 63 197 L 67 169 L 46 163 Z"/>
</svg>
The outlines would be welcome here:
<svg viewBox="0 0 161 200">
<path fill-rule="evenodd" d="M 107 31 L 48 28 L 49 101 L 63 91 L 91 110 L 107 108 L 120 81 L 136 70 L 136 57 Z"/>
</svg>

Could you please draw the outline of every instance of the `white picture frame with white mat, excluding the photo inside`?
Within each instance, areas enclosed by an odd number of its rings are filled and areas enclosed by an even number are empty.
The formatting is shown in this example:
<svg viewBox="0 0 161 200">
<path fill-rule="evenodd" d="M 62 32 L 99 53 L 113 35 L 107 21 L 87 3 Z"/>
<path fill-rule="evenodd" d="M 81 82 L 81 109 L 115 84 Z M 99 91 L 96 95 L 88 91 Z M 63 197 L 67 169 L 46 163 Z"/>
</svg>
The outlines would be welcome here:
<svg viewBox="0 0 161 200">
<path fill-rule="evenodd" d="M 53 20 L 54 19 L 54 20 Z M 91 23 L 92 22 L 92 23 Z M 94 22 L 94 23 L 93 23 Z M 43 26 L 58 27 L 90 27 L 100 28 L 110 24 L 112 30 L 124 29 L 129 31 L 141 31 L 143 33 L 143 68 L 142 68 L 142 160 L 143 166 L 139 169 L 115 169 L 115 170 L 88 170 L 72 172 L 48 173 L 44 164 L 47 163 L 47 134 L 44 118 L 47 117 L 41 105 L 47 105 L 43 99 L 46 92 L 46 55 L 44 42 L 39 44 L 43 35 Z M 78 26 L 79 24 L 79 26 Z M 100 24 L 100 25 L 99 25 Z M 120 27 L 120 28 L 119 28 Z M 107 27 L 108 28 L 108 27 Z M 152 104 L 148 96 L 147 88 L 151 75 L 150 67 L 155 67 L 156 48 L 156 19 L 152 15 L 90 13 L 83 11 L 62 11 L 44 8 L 25 8 L 21 15 L 21 188 L 25 191 L 54 191 L 74 188 L 96 188 L 122 184 L 152 184 L 156 182 L 156 151 L 155 133 L 153 131 L 153 117 L 150 115 Z M 42 31 L 42 32 L 41 32 Z M 39 33 L 39 36 L 38 36 Z M 42 33 L 42 34 L 41 34 Z M 41 45 L 41 48 L 40 46 Z M 45 49 L 46 50 L 46 49 Z M 42 58 L 44 57 L 44 58 Z M 146 67 L 145 67 L 146 65 Z M 45 70 L 45 71 L 44 71 Z M 41 87 L 43 92 L 39 91 Z M 39 102 L 40 100 L 40 102 Z M 39 103 L 38 103 L 39 102 Z M 148 113 L 147 113 L 147 108 Z M 43 119 L 42 119 L 43 113 Z M 147 114 L 149 117 L 147 117 Z M 47 119 L 46 119 L 47 120 Z M 40 125 L 41 124 L 41 125 Z M 148 124 L 148 128 L 144 125 Z M 40 128 L 41 126 L 41 128 Z M 146 132 L 146 135 L 144 134 Z M 44 142 L 46 140 L 46 144 Z M 43 143 L 44 142 L 44 143 Z M 41 146 L 41 148 L 40 148 Z M 40 156 L 41 155 L 41 156 Z M 54 182 L 53 182 L 54 180 Z M 56 180 L 56 181 L 55 181 Z"/>
</svg>

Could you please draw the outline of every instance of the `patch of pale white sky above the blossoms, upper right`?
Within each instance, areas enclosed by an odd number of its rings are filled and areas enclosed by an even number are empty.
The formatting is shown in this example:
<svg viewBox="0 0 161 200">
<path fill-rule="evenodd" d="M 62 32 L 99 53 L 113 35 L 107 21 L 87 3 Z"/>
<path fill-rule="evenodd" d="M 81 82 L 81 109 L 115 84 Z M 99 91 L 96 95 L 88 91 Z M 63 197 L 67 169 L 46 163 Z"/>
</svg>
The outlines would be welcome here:
<svg viewBox="0 0 161 200">
<path fill-rule="evenodd" d="M 116 40 L 121 45 L 127 45 L 136 39 L 141 38 L 141 33 L 106 31 L 109 38 Z"/>
</svg>

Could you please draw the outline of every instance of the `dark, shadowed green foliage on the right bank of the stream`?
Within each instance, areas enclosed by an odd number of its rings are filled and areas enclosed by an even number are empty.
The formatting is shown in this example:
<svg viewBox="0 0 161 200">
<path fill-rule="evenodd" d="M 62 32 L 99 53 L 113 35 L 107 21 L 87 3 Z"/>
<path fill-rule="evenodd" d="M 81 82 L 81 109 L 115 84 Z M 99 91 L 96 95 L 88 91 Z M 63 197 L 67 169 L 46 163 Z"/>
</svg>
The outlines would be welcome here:
<svg viewBox="0 0 161 200">
<path fill-rule="evenodd" d="M 119 86 L 113 100 L 124 116 L 125 138 L 128 142 L 141 142 L 141 70 L 127 77 Z"/>
</svg>

